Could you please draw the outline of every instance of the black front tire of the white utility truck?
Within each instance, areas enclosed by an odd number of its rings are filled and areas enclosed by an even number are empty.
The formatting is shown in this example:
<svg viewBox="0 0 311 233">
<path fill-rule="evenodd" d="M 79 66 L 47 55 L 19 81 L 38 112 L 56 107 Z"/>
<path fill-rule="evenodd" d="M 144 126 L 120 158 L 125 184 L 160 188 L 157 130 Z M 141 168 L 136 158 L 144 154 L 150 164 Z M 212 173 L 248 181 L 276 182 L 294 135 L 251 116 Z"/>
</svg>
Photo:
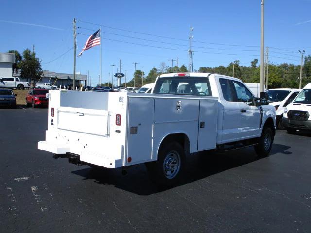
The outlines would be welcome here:
<svg viewBox="0 0 311 233">
<path fill-rule="evenodd" d="M 273 133 L 271 128 L 264 127 L 259 138 L 259 143 L 254 146 L 255 152 L 259 157 L 267 157 L 273 144 Z"/>
</svg>

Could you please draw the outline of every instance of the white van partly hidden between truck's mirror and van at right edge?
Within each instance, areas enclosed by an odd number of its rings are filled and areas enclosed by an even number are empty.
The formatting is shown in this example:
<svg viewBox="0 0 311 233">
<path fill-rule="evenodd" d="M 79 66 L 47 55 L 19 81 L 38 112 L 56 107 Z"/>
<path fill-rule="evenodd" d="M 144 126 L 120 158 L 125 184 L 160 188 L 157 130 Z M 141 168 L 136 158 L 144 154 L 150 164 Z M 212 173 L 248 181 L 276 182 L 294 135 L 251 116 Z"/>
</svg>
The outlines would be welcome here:
<svg viewBox="0 0 311 233">
<path fill-rule="evenodd" d="M 269 89 L 269 104 L 276 108 L 276 126 L 282 128 L 282 118 L 285 107 L 293 102 L 301 89 L 276 88 Z"/>
</svg>

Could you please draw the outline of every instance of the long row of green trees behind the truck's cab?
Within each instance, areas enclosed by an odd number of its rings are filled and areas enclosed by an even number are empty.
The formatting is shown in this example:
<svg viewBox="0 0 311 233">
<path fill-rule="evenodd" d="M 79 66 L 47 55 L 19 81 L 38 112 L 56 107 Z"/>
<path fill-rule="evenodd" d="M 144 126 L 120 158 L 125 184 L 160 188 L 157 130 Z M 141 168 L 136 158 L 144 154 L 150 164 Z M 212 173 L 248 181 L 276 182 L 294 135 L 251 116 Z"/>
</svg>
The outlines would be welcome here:
<svg viewBox="0 0 311 233">
<path fill-rule="evenodd" d="M 234 72 L 233 72 L 234 67 Z M 154 83 L 158 75 L 164 73 L 189 72 L 185 65 L 181 67 L 168 67 L 164 62 L 158 68 L 152 68 L 148 75 L 145 76 L 141 70 L 136 70 L 133 78 L 126 83 L 126 86 L 140 87 L 143 84 Z M 244 83 L 260 83 L 260 66 L 258 59 L 250 62 L 249 66 L 241 66 L 239 60 L 231 62 L 227 66 L 218 67 L 200 67 L 195 72 L 200 73 L 217 73 L 227 76 L 234 76 L 241 79 Z M 269 64 L 268 65 L 268 88 L 299 88 L 300 65 L 289 63 Z M 311 82 L 311 56 L 304 58 L 302 69 L 302 87 Z M 108 83 L 104 83 L 108 85 Z M 122 83 L 125 86 L 125 83 Z"/>
</svg>

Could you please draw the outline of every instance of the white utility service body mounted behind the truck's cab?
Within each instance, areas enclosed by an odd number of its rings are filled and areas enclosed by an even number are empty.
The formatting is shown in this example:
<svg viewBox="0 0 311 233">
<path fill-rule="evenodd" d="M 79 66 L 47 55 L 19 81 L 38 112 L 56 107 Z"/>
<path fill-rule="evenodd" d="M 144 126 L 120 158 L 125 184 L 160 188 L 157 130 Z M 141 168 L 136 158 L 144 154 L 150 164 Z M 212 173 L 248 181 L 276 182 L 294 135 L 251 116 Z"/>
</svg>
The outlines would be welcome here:
<svg viewBox="0 0 311 233">
<path fill-rule="evenodd" d="M 157 160 L 162 140 L 172 133 L 188 137 L 190 153 L 216 147 L 217 97 L 61 90 L 49 95 L 41 150 L 114 168 Z"/>
</svg>

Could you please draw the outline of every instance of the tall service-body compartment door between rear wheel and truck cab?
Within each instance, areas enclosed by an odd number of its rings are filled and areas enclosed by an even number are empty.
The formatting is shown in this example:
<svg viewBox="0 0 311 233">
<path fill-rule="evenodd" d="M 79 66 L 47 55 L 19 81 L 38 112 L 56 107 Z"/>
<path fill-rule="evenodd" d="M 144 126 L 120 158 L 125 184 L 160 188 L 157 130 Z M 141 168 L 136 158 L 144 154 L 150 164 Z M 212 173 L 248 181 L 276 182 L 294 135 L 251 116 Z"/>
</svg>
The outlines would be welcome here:
<svg viewBox="0 0 311 233">
<path fill-rule="evenodd" d="M 216 148 L 218 100 L 200 100 L 198 150 Z"/>
</svg>

